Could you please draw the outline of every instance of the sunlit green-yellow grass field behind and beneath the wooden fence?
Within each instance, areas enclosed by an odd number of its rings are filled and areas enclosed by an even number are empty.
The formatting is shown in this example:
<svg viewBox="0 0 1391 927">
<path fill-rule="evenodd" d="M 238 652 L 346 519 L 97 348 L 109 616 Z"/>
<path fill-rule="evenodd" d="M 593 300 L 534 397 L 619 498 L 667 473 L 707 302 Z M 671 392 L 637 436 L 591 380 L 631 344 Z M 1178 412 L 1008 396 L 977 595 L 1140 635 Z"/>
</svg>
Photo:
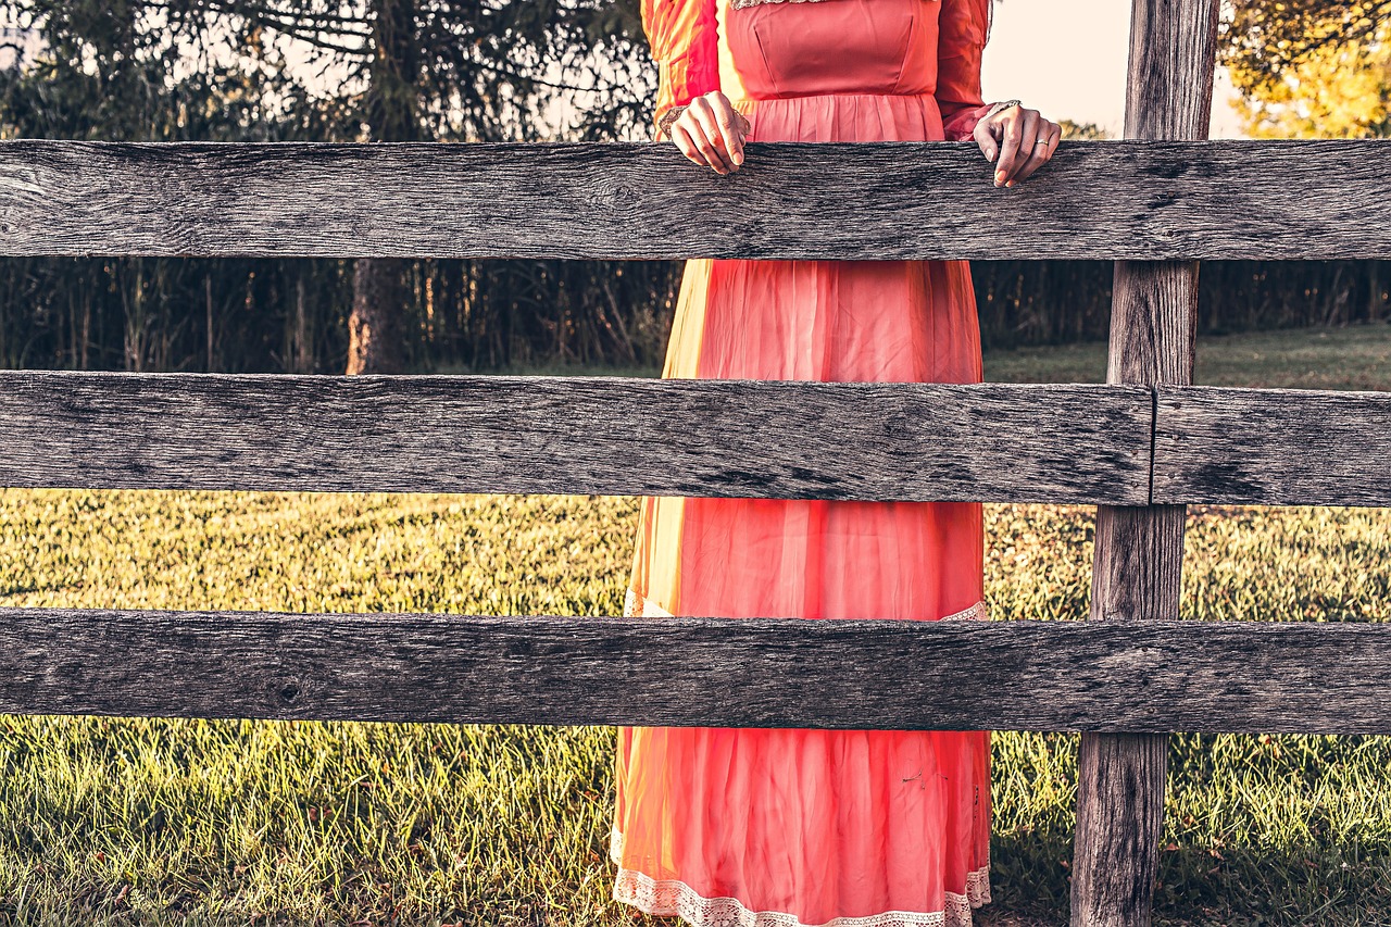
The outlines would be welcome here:
<svg viewBox="0 0 1391 927">
<path fill-rule="evenodd" d="M 1104 348 L 986 358 L 1096 380 Z M 1391 388 L 1391 326 L 1225 337 L 1199 380 Z M 0 604 L 618 614 L 609 497 L 0 491 Z M 992 617 L 1078 618 L 1091 511 L 989 505 Z M 1391 619 L 1391 514 L 1195 509 L 1184 615 Z M 0 715 L 0 917 L 632 924 L 612 731 Z M 1174 736 L 1160 923 L 1391 923 L 1391 740 Z M 996 903 L 1063 923 L 1075 738 L 995 735 Z M 654 921 L 666 923 L 666 921 Z"/>
</svg>

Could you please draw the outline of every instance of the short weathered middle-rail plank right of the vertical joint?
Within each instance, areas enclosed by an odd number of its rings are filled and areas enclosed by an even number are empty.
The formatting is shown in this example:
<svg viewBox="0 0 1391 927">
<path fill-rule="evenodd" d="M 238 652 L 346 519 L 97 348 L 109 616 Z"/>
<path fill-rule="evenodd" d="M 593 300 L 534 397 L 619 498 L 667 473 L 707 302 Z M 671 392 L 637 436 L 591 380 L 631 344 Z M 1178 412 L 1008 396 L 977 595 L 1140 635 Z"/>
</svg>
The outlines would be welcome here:
<svg viewBox="0 0 1391 927">
<path fill-rule="evenodd" d="M 1155 501 L 1391 505 L 1391 393 L 1160 387 Z"/>
</svg>

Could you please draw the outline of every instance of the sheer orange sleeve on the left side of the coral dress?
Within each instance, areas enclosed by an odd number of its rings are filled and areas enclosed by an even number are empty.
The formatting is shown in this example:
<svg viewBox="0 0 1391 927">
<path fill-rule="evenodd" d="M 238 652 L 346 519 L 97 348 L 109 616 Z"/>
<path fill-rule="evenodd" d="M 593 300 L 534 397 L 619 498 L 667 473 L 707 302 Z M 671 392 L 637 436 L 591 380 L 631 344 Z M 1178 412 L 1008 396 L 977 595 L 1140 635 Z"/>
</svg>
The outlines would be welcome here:
<svg viewBox="0 0 1391 927">
<path fill-rule="evenodd" d="M 657 61 L 657 134 L 697 96 L 719 89 L 715 0 L 643 0 L 643 29 Z"/>
</svg>

